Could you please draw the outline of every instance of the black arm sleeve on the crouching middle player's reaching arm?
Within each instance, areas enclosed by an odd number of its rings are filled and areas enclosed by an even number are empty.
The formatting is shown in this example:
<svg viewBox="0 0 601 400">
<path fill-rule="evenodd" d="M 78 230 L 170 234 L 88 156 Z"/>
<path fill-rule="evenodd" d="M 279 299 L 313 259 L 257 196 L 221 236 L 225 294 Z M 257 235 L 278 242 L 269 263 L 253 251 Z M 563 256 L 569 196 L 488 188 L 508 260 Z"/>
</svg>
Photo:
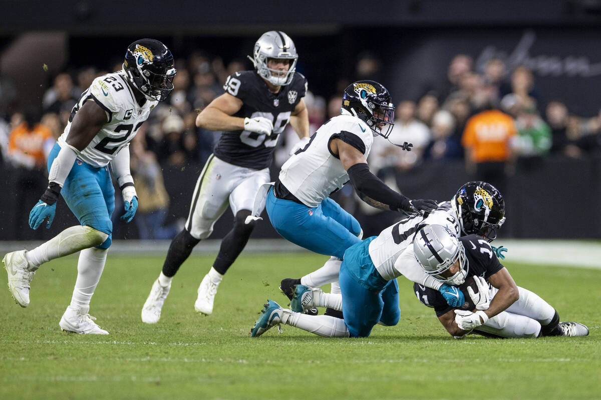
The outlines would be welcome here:
<svg viewBox="0 0 601 400">
<path fill-rule="evenodd" d="M 365 163 L 351 166 L 347 173 L 349 174 L 350 183 L 357 191 L 371 197 L 373 200 L 387 204 L 391 210 L 401 210 L 403 209 L 403 203 L 409 202 L 407 197 L 395 192 L 380 181 L 377 176 L 373 175 Z"/>
</svg>

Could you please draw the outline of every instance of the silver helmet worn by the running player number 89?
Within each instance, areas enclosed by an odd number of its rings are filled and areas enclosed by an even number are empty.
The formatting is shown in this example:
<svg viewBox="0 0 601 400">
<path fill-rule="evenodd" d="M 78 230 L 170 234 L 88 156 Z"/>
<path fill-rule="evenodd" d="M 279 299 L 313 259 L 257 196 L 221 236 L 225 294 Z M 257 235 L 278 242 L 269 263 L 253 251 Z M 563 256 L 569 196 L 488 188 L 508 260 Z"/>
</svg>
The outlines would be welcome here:
<svg viewBox="0 0 601 400">
<path fill-rule="evenodd" d="M 287 34 L 282 31 L 269 31 L 258 38 L 252 57 L 248 56 L 248 58 L 254 64 L 260 77 L 272 83 L 272 85 L 285 86 L 292 82 L 299 55 L 296 53 L 294 42 Z M 269 68 L 267 67 L 267 60 L 270 58 L 288 60 L 290 68 L 288 68 L 288 71 Z"/>
</svg>

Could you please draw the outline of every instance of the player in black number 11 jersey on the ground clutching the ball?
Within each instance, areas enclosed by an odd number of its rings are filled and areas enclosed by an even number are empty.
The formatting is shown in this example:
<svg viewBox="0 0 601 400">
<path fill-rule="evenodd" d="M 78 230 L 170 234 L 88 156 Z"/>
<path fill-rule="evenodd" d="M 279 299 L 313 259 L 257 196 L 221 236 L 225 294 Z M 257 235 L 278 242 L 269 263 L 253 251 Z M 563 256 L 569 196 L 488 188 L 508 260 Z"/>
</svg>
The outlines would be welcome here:
<svg viewBox="0 0 601 400">
<path fill-rule="evenodd" d="M 454 338 L 470 332 L 500 338 L 588 335 L 585 325 L 560 323 L 558 312 L 549 303 L 517 286 L 481 236 L 458 239 L 447 227 L 427 225 L 416 234 L 413 251 L 426 273 L 436 279 L 457 285 L 474 279 L 474 284 L 466 286 L 466 303 L 459 308 L 449 306 L 439 291 L 413 285 L 418 300 L 434 308 Z"/>
</svg>

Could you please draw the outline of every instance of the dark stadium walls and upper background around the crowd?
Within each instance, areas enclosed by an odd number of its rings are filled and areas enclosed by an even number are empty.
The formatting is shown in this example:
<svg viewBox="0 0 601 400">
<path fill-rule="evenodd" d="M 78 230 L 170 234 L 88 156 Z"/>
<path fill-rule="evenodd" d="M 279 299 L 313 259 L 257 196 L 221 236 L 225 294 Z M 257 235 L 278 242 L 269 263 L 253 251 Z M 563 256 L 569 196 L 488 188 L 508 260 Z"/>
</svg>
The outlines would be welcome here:
<svg viewBox="0 0 601 400">
<path fill-rule="evenodd" d="M 601 55 L 597 49 L 601 2 L 549 3 L 412 0 L 368 6 L 362 2 L 263 5 L 226 1 L 216 7 L 210 2 L 165 5 L 148 1 L 141 5 L 5 0 L 0 2 L 2 118 L 10 124 L 14 113 L 39 107 L 60 73 L 69 73 L 75 82 L 77 74 L 90 66 L 97 71 L 112 70 L 121 62 L 126 46 L 141 37 L 162 40 L 185 67 L 190 67 L 193 56 L 204 58 L 205 62 L 197 66 L 213 73 L 213 86 L 218 88 L 224 75 L 215 71 L 215 59 L 221 59 L 224 66 L 240 61 L 251 68 L 245 56 L 251 53 L 254 41 L 264 31 L 281 29 L 296 43 L 300 56 L 297 70 L 307 76 L 310 91 L 326 103 L 340 93 L 340 85 L 358 77 L 358 61 L 368 57 L 380 62 L 379 70 L 370 77 L 389 88 L 395 103 L 417 102 L 434 91 L 442 108 L 441 88 L 448 86 L 447 68 L 455 55 L 471 56 L 478 74 L 483 73 L 487 60 L 496 57 L 507 67 L 505 82 L 514 67 L 528 67 L 534 76 L 538 113 L 544 119 L 549 102 L 563 102 L 582 139 L 576 143 L 582 149 L 579 157 L 566 157 L 557 151 L 517 160 L 504 190 L 508 222 L 502 236 L 599 238 Z M 149 120 L 147 130 L 160 130 L 160 118 Z M 180 163 L 167 160 L 160 164 L 170 200 L 165 225 L 177 224 L 187 216 L 203 157 L 209 154 L 214 139 L 194 129 L 183 131 L 182 136 L 195 138 L 192 154 L 187 152 Z M 2 224 L 0 239 L 46 239 L 73 223 L 70 213 L 63 212 L 50 230 L 29 230 L 23 215 L 41 191 L 19 187 L 16 167 L 6 156 L 1 168 L 5 196 L 0 198 L 0 218 L 10 223 Z M 410 170 L 396 170 L 394 178 L 409 197 L 445 200 L 461 184 L 478 176 L 466 171 L 462 158 L 455 158 L 437 163 L 424 160 Z M 19 196 L 23 192 L 31 193 L 34 199 Z M 365 214 L 348 191 L 338 194 L 337 200 L 364 218 L 362 222 L 388 225 L 395 218 Z M 64 203 L 62 207 L 66 211 Z M 225 234 L 230 221 L 228 211 L 212 238 Z M 140 236 L 136 225 L 115 224 L 117 239 Z M 264 222 L 253 237 L 276 234 Z"/>
</svg>

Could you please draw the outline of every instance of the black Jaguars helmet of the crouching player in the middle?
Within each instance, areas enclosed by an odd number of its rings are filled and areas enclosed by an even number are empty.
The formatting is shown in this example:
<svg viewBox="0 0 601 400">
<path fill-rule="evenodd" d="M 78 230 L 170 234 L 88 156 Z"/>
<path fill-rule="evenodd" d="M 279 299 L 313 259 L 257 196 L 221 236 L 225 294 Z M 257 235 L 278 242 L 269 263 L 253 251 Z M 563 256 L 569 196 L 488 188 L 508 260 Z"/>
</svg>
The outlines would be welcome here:
<svg viewBox="0 0 601 400">
<path fill-rule="evenodd" d="M 365 121 L 376 134 L 388 138 L 394 127 L 394 106 L 386 88 L 373 80 L 358 80 L 344 89 L 343 114 Z"/>
</svg>

